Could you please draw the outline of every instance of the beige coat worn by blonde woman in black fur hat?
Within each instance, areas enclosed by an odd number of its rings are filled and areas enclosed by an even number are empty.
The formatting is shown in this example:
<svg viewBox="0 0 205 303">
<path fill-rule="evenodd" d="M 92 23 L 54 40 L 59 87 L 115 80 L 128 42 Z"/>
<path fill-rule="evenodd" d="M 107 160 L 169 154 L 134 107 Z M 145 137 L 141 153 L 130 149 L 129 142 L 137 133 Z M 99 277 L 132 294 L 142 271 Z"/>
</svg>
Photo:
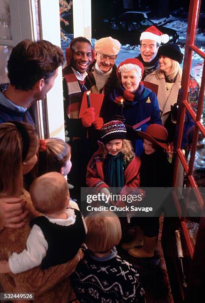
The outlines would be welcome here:
<svg viewBox="0 0 205 303">
<path fill-rule="evenodd" d="M 181 85 L 181 81 L 179 79 L 179 74 L 177 75 L 176 81 L 171 89 L 170 94 L 167 96 L 166 92 L 166 82 L 165 79 L 157 79 L 155 72 L 152 74 L 148 75 L 145 78 L 145 81 L 154 83 L 158 85 L 158 94 L 157 94 L 157 99 L 159 103 L 159 109 L 160 109 L 160 116 L 161 116 L 161 121 L 162 125 L 164 125 L 166 119 L 168 118 L 168 115 L 171 111 L 171 105 L 176 103 L 178 93 L 179 93 L 179 88 Z"/>
</svg>

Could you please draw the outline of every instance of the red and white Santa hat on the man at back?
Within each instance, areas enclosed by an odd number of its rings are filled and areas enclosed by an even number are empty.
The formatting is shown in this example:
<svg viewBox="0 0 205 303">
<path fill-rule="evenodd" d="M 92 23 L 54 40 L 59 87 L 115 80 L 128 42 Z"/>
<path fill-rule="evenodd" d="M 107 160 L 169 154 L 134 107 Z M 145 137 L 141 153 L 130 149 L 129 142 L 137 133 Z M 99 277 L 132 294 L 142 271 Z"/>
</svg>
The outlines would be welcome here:
<svg viewBox="0 0 205 303">
<path fill-rule="evenodd" d="M 169 41 L 169 36 L 167 34 L 163 34 L 154 25 L 152 25 L 141 34 L 140 41 L 144 39 L 156 41 L 160 45 L 161 43 L 167 43 Z"/>
</svg>

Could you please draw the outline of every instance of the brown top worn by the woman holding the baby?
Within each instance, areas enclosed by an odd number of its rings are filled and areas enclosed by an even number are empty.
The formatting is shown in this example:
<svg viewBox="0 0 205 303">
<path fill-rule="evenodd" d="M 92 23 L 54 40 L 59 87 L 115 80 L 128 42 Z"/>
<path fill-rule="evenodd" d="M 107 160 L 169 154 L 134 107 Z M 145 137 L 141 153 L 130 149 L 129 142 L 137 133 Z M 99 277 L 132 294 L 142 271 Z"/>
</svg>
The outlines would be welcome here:
<svg viewBox="0 0 205 303">
<path fill-rule="evenodd" d="M 22 199 L 27 202 L 29 210 L 27 222 L 22 228 L 4 228 L 0 232 L 0 260 L 8 259 L 11 253 L 20 253 L 26 248 L 31 229 L 29 222 L 39 215 L 28 192 L 24 192 Z M 67 277 L 75 270 L 78 261 L 79 253 L 71 261 L 47 270 L 38 266 L 19 274 L 0 274 L 0 284 L 7 293 L 34 293 L 35 303 L 67 303 L 75 298 Z"/>
</svg>

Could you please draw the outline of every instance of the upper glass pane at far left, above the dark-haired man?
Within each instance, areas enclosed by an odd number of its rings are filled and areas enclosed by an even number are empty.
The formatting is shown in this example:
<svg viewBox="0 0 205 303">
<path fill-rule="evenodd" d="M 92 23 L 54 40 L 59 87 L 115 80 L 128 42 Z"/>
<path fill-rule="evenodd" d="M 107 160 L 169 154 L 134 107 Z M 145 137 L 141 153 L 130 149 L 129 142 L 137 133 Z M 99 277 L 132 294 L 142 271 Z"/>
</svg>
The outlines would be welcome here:
<svg viewBox="0 0 205 303">
<path fill-rule="evenodd" d="M 0 39 L 12 40 L 9 0 L 0 0 Z"/>
</svg>

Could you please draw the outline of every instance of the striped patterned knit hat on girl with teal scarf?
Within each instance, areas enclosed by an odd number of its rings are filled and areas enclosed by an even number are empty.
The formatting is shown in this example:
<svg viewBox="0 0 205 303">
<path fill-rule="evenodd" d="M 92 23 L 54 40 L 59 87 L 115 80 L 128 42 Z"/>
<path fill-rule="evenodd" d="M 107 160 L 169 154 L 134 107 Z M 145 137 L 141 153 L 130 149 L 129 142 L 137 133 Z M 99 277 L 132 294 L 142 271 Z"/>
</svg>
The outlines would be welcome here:
<svg viewBox="0 0 205 303">
<path fill-rule="evenodd" d="M 111 140 L 126 139 L 126 127 L 122 121 L 113 120 L 105 123 L 101 129 L 101 141 L 107 144 Z"/>
</svg>

